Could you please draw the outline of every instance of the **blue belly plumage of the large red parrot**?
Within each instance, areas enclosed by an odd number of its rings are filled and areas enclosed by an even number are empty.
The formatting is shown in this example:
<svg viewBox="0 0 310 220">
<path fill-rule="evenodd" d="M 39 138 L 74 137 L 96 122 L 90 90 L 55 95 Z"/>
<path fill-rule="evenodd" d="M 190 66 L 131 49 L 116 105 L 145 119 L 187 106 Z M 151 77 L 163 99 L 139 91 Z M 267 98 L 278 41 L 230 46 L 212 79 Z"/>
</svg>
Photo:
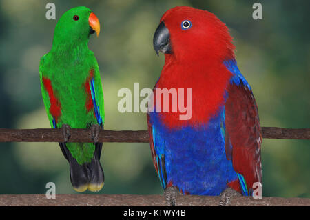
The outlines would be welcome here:
<svg viewBox="0 0 310 220">
<path fill-rule="evenodd" d="M 167 128 L 158 114 L 149 116 L 164 188 L 170 183 L 183 193 L 218 195 L 227 183 L 238 178 L 231 160 L 226 158 L 223 106 L 208 123 L 197 128 Z"/>
</svg>

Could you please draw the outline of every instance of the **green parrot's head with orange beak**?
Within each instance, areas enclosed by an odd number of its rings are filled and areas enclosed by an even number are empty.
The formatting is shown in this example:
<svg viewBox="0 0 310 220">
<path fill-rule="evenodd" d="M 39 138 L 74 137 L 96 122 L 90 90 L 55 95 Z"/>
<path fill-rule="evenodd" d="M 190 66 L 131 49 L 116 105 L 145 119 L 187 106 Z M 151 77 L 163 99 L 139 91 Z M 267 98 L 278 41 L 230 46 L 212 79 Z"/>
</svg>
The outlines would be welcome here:
<svg viewBox="0 0 310 220">
<path fill-rule="evenodd" d="M 79 43 L 88 41 L 90 34 L 99 36 L 100 23 L 96 15 L 86 7 L 71 8 L 59 19 L 55 32 L 56 44 Z"/>
</svg>

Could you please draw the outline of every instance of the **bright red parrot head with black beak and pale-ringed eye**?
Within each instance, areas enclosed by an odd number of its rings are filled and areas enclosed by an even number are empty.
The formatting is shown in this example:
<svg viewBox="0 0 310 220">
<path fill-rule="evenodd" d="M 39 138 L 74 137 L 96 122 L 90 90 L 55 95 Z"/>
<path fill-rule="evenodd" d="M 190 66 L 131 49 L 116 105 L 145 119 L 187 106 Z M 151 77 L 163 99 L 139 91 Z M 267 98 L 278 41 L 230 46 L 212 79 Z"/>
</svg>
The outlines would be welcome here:
<svg viewBox="0 0 310 220">
<path fill-rule="evenodd" d="M 234 45 L 225 23 L 205 10 L 181 6 L 163 14 L 154 34 L 156 53 L 178 61 L 231 59 Z"/>
</svg>

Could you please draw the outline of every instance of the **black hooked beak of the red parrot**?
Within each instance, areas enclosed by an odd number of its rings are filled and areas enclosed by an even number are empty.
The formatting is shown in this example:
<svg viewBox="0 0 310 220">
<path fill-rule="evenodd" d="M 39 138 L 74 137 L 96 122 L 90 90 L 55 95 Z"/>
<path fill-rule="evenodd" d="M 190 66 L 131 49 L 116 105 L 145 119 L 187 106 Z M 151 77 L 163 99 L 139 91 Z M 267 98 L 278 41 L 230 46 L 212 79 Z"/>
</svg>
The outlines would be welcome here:
<svg viewBox="0 0 310 220">
<path fill-rule="evenodd" d="M 157 55 L 158 52 L 163 52 L 164 54 L 171 53 L 170 33 L 163 21 L 161 21 L 159 26 L 156 28 L 153 38 L 153 46 Z"/>
</svg>

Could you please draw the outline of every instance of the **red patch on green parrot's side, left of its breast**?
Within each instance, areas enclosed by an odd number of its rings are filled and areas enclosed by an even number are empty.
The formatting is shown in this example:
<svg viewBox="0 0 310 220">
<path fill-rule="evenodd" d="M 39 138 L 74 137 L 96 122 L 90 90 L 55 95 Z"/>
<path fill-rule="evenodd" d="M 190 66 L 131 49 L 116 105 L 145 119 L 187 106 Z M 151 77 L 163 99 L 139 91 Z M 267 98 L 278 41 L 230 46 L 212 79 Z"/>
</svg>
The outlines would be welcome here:
<svg viewBox="0 0 310 220">
<path fill-rule="evenodd" d="M 45 89 L 48 91 L 48 97 L 50 97 L 50 114 L 54 117 L 55 121 L 59 119 L 61 115 L 60 101 L 55 97 L 54 90 L 52 88 L 52 82 L 50 79 L 42 77 L 42 81 Z"/>
</svg>

